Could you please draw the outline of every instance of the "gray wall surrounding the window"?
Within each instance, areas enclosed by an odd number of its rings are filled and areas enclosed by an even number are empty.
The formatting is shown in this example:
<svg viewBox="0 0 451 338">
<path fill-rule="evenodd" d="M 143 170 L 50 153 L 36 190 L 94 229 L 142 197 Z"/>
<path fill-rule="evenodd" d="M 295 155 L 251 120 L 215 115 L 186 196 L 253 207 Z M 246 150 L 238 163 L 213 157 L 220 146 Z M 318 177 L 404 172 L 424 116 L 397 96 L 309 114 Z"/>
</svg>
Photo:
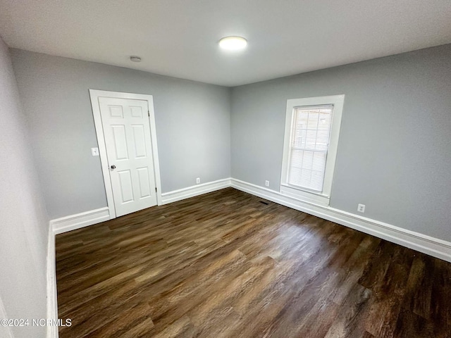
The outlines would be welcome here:
<svg viewBox="0 0 451 338">
<path fill-rule="evenodd" d="M 330 206 L 451 240 L 451 45 L 232 91 L 232 177 L 278 190 L 287 99 L 345 94 Z"/>
</svg>

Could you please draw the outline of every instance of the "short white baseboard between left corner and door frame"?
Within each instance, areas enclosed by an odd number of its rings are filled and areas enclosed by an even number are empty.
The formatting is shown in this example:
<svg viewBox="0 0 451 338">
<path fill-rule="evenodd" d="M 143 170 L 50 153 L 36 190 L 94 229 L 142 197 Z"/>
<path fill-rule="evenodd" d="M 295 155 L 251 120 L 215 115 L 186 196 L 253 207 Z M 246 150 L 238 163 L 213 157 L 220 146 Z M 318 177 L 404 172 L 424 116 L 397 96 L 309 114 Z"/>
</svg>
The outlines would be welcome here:
<svg viewBox="0 0 451 338">
<path fill-rule="evenodd" d="M 101 223 L 109 219 L 109 208 L 106 206 L 104 208 L 51 220 L 50 229 L 54 231 L 54 234 L 61 234 L 70 230 L 80 229 L 80 227 Z"/>
</svg>

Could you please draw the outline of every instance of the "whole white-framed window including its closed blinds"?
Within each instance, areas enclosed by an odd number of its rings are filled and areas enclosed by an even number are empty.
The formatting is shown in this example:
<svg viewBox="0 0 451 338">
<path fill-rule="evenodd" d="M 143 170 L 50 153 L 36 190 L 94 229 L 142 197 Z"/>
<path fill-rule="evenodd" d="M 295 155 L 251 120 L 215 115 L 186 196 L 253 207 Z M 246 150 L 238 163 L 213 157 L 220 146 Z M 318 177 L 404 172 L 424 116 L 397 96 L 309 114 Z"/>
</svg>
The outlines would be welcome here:
<svg viewBox="0 0 451 338">
<path fill-rule="evenodd" d="M 344 95 L 287 101 L 280 192 L 329 204 Z"/>
</svg>

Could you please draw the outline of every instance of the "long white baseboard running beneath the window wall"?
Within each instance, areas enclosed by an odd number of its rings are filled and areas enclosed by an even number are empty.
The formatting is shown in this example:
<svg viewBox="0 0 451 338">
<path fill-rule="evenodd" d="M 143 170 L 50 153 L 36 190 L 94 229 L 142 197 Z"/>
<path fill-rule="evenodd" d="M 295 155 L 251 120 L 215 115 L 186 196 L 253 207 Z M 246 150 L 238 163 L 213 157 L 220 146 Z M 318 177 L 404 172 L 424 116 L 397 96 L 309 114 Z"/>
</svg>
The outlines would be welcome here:
<svg viewBox="0 0 451 338">
<path fill-rule="evenodd" d="M 405 230 L 395 225 L 379 222 L 378 220 L 364 218 L 353 213 L 330 208 L 330 206 L 319 206 L 299 201 L 274 190 L 233 178 L 231 179 L 231 187 L 451 262 L 451 242 L 443 241 L 443 239 Z"/>
</svg>

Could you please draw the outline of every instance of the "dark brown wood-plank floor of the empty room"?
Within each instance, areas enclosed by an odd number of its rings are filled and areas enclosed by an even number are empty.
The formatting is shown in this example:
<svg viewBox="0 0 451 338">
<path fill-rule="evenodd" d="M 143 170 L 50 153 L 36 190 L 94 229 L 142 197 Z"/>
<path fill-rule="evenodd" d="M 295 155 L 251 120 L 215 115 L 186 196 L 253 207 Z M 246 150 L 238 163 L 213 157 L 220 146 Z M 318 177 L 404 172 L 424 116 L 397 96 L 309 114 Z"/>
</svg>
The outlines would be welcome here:
<svg viewBox="0 0 451 338">
<path fill-rule="evenodd" d="M 451 263 L 228 188 L 56 237 L 60 337 L 451 337 Z"/>
</svg>

